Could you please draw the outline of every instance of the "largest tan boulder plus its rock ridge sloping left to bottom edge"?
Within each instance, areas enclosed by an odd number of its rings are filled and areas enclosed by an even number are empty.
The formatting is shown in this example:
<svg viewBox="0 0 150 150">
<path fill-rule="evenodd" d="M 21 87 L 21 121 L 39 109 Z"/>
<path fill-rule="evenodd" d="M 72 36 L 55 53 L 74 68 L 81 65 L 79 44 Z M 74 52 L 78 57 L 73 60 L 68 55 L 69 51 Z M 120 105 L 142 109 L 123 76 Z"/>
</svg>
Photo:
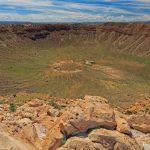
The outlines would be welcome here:
<svg viewBox="0 0 150 150">
<path fill-rule="evenodd" d="M 86 133 L 96 128 L 113 130 L 117 124 L 113 109 L 107 100 L 98 96 L 85 96 L 84 100 L 72 103 L 48 131 L 44 149 L 55 150 L 64 136 Z"/>
</svg>

